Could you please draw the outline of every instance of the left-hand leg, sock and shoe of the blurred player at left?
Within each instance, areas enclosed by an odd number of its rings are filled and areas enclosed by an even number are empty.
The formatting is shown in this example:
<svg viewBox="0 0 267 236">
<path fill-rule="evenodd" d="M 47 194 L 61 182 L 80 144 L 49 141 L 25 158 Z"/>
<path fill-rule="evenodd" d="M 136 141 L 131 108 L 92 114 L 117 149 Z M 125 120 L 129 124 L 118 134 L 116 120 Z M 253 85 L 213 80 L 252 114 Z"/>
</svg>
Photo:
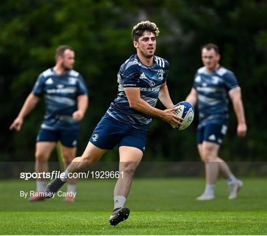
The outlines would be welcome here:
<svg viewBox="0 0 267 236">
<path fill-rule="evenodd" d="M 35 151 L 35 172 L 48 172 L 48 158 L 55 148 L 55 142 L 37 142 Z M 45 191 L 45 179 L 40 178 L 36 181 L 36 193 L 43 193 Z M 44 200 L 45 197 L 41 194 L 34 194 L 29 198 L 29 201 Z"/>
</svg>

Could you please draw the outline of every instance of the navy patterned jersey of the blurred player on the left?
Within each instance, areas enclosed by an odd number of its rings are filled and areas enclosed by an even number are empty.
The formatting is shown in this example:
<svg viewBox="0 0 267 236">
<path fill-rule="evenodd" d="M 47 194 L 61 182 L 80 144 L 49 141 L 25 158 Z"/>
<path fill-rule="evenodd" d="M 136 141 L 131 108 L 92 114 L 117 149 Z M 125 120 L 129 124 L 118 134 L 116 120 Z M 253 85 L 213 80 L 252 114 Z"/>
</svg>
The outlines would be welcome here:
<svg viewBox="0 0 267 236">
<path fill-rule="evenodd" d="M 33 94 L 45 97 L 45 120 L 43 129 L 71 129 L 79 126 L 72 118 L 77 108 L 77 96 L 88 95 L 83 77 L 75 70 L 58 75 L 49 68 L 39 75 Z"/>
</svg>

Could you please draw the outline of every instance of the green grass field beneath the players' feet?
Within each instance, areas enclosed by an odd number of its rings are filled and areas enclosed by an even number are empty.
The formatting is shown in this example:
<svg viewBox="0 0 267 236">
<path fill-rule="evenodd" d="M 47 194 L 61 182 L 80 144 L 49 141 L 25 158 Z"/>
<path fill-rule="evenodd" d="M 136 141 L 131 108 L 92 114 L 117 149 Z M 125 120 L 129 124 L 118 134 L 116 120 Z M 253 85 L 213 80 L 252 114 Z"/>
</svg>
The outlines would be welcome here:
<svg viewBox="0 0 267 236">
<path fill-rule="evenodd" d="M 267 180 L 244 178 L 237 199 L 227 200 L 219 180 L 216 199 L 198 202 L 204 180 L 134 179 L 127 221 L 108 225 L 116 180 L 79 180 L 77 201 L 62 197 L 27 202 L 20 190 L 33 181 L 1 181 L 1 235 L 267 235 Z M 253 193 L 253 194 L 252 194 Z"/>
</svg>

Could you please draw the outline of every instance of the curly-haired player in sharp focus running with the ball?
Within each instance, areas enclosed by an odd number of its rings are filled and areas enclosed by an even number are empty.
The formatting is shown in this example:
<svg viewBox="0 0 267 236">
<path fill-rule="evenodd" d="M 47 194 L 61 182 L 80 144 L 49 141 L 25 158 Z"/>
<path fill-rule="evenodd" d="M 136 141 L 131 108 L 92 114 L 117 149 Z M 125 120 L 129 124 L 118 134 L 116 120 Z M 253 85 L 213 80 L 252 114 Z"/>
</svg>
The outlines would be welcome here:
<svg viewBox="0 0 267 236">
<path fill-rule="evenodd" d="M 173 114 L 174 106 L 166 84 L 169 73 L 167 60 L 155 56 L 158 27 L 150 21 L 134 26 L 132 39 L 137 54 L 122 64 L 118 73 L 118 95 L 94 129 L 81 157 L 75 158 L 60 178 L 46 187 L 47 195 L 56 192 L 68 180 L 68 174 L 89 169 L 109 149 L 119 145 L 119 172 L 123 177 L 114 188 L 114 209 L 109 224 L 116 226 L 128 218 L 130 210 L 124 207 L 134 171 L 142 159 L 146 135 L 152 117 L 169 124 L 183 120 Z M 167 108 L 155 108 L 158 98 Z M 49 197 L 47 197 L 49 198 Z"/>
</svg>

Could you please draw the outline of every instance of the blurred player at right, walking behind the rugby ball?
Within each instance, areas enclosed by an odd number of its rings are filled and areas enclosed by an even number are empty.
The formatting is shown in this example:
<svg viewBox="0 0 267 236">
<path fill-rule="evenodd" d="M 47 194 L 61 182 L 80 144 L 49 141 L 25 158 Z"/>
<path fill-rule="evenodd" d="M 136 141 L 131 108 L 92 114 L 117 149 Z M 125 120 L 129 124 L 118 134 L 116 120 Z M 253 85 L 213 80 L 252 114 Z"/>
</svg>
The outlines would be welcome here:
<svg viewBox="0 0 267 236">
<path fill-rule="evenodd" d="M 198 152 L 205 162 L 206 188 L 197 200 L 211 200 L 219 171 L 229 186 L 228 199 L 237 197 L 243 183 L 237 180 L 228 165 L 218 156 L 220 145 L 228 127 L 228 97 L 232 101 L 237 117 L 237 135 L 247 132 L 241 89 L 234 74 L 219 64 L 219 47 L 204 45 L 201 49 L 204 67 L 197 70 L 193 88 L 186 101 L 198 104 L 199 124 L 197 128 Z"/>
</svg>

